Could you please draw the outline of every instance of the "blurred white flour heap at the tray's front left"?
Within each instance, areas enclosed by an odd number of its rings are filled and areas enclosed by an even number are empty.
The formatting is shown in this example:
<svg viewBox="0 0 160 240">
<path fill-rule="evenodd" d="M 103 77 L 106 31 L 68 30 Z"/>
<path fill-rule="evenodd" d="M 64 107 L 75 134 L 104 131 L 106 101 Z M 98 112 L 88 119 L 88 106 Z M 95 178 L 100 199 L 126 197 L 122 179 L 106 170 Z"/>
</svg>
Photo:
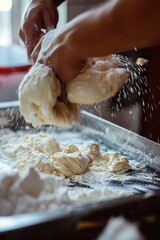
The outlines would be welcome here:
<svg viewBox="0 0 160 240">
<path fill-rule="evenodd" d="M 72 205 L 63 177 L 29 168 L 22 174 L 0 175 L 0 215 L 55 210 Z"/>
</svg>

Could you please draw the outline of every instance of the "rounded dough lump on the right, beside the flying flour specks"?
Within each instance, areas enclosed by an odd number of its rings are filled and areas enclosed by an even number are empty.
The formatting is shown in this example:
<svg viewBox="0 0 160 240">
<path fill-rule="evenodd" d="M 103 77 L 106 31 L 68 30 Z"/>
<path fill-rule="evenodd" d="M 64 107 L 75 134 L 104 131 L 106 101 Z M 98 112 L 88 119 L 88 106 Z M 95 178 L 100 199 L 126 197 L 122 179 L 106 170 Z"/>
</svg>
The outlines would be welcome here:
<svg viewBox="0 0 160 240">
<path fill-rule="evenodd" d="M 117 66 L 114 58 L 89 60 L 88 68 L 66 84 L 68 101 L 95 104 L 114 96 L 128 78 L 126 70 Z"/>
</svg>

